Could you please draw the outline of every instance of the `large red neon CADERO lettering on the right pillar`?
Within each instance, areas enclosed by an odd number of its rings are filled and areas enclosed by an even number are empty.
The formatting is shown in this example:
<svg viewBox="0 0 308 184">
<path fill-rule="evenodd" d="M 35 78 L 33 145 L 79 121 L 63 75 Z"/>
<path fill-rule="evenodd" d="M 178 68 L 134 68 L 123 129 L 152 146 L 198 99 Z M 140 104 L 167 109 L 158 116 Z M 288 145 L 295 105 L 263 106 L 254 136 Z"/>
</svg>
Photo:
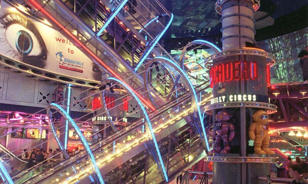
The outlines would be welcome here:
<svg viewBox="0 0 308 184">
<path fill-rule="evenodd" d="M 256 80 L 258 65 L 255 61 L 233 61 L 215 65 L 210 69 L 210 86 L 231 80 Z"/>
</svg>

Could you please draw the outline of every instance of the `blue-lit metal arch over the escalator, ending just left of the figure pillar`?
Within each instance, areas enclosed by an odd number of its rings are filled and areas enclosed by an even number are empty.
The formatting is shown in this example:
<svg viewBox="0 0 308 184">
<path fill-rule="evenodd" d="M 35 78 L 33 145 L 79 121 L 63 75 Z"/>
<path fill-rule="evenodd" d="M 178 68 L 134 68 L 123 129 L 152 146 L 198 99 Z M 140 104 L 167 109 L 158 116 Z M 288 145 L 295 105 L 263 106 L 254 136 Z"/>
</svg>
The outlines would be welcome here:
<svg viewBox="0 0 308 184">
<path fill-rule="evenodd" d="M 184 80 L 185 80 L 186 84 L 188 85 L 188 88 L 190 88 L 190 92 L 192 93 L 192 100 L 196 104 L 197 113 L 198 113 L 198 116 L 199 116 L 199 121 L 200 121 L 200 124 L 201 124 L 201 127 L 202 127 L 202 132 L 200 132 L 201 133 L 200 137 L 201 137 L 201 140 L 202 140 L 202 144 L 207 149 L 207 151 L 209 151 L 210 150 L 209 141 L 207 139 L 206 132 L 205 132 L 205 127 L 204 127 L 204 124 L 203 124 L 201 110 L 200 110 L 200 106 L 199 106 L 199 103 L 198 103 L 198 96 L 197 96 L 197 93 L 196 93 L 196 90 L 195 90 L 193 84 L 191 83 L 191 81 L 190 81 L 188 75 L 185 73 L 185 71 L 180 67 L 180 65 L 178 65 L 175 62 L 173 62 L 169 58 L 155 57 L 150 62 L 148 62 L 147 65 L 151 65 L 153 62 L 157 62 L 157 61 L 161 61 L 161 60 L 165 61 L 168 65 L 172 66 L 177 72 L 179 72 L 180 75 L 182 75 L 184 77 Z M 203 136 L 202 136 L 202 134 L 203 134 Z"/>
</svg>

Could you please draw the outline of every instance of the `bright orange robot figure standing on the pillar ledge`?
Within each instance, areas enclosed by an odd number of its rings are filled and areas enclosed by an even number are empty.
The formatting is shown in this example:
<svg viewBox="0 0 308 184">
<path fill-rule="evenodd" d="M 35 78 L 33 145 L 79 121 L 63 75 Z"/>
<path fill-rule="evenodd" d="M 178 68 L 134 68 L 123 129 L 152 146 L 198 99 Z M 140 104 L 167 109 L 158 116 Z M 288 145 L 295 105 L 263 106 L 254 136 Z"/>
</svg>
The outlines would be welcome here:
<svg viewBox="0 0 308 184">
<path fill-rule="evenodd" d="M 268 119 L 267 112 L 263 110 L 257 110 L 252 115 L 253 123 L 249 126 L 249 139 L 254 140 L 254 154 L 274 154 L 274 151 L 269 149 Z"/>
</svg>

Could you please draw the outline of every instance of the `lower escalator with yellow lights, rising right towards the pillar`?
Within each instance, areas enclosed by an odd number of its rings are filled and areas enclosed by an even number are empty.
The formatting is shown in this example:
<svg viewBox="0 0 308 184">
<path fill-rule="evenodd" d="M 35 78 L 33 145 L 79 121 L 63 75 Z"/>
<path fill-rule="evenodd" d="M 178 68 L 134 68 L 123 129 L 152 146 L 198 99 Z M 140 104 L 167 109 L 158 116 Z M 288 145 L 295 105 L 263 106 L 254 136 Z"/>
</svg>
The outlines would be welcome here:
<svg viewBox="0 0 308 184">
<path fill-rule="evenodd" d="M 204 83 L 196 90 L 201 92 L 207 88 L 209 88 L 208 83 Z M 205 104 L 209 96 L 210 94 L 204 98 L 201 105 Z M 197 131 L 194 131 L 201 127 L 193 126 L 195 123 L 191 116 L 193 114 L 191 102 L 191 95 L 187 92 L 149 113 L 169 179 L 174 178 L 181 170 L 192 166 L 205 156 L 200 137 L 197 136 Z M 178 112 L 179 106 L 180 111 Z M 142 128 L 144 124 L 143 118 L 140 118 L 91 145 L 99 170 L 105 176 L 104 180 L 109 181 L 107 183 L 116 183 L 115 181 L 121 183 L 127 179 L 126 182 L 132 183 L 164 181 L 162 174 L 156 168 L 156 162 L 152 156 L 149 156 L 152 154 L 149 153 L 151 149 L 147 143 L 148 132 L 143 131 Z M 146 174 L 140 168 L 147 168 Z M 92 183 L 95 182 L 93 173 L 91 161 L 83 150 L 33 178 L 26 181 L 24 178 L 23 180 L 17 179 L 14 182 Z"/>
</svg>

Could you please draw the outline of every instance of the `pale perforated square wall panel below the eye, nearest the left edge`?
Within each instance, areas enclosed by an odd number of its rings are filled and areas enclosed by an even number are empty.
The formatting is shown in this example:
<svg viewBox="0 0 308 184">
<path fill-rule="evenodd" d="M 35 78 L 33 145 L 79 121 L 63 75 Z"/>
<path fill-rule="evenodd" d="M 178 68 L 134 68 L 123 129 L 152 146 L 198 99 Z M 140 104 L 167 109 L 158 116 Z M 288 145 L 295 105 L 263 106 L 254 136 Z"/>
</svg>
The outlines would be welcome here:
<svg viewBox="0 0 308 184">
<path fill-rule="evenodd" d="M 35 80 L 9 73 L 6 100 L 34 103 Z"/>
</svg>

